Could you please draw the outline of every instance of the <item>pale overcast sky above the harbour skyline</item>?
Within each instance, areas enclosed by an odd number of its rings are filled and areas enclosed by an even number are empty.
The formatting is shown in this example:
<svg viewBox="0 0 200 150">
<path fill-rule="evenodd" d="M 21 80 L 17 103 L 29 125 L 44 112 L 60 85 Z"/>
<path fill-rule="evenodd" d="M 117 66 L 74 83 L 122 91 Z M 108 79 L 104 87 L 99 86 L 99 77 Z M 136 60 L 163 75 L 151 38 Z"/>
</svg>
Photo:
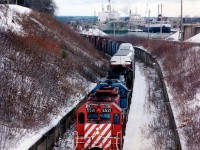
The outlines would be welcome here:
<svg viewBox="0 0 200 150">
<path fill-rule="evenodd" d="M 58 16 L 97 16 L 106 8 L 108 0 L 54 0 Z M 179 17 L 181 15 L 181 0 L 111 0 L 112 9 L 128 16 L 129 10 L 141 16 L 158 15 L 158 4 L 163 5 L 163 16 Z M 200 0 L 183 0 L 183 16 L 200 17 Z"/>
</svg>

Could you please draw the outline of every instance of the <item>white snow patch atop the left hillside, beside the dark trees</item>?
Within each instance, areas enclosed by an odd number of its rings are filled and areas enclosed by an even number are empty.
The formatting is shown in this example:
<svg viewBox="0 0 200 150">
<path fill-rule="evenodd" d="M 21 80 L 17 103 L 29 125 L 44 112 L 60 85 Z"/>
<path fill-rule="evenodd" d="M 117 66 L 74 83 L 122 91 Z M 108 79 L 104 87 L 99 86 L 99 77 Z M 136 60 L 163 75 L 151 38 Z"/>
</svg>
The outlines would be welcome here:
<svg viewBox="0 0 200 150">
<path fill-rule="evenodd" d="M 23 33 L 22 18 L 19 15 L 28 15 L 31 9 L 19 5 L 0 5 L 0 30 L 10 29 L 16 33 Z"/>
</svg>

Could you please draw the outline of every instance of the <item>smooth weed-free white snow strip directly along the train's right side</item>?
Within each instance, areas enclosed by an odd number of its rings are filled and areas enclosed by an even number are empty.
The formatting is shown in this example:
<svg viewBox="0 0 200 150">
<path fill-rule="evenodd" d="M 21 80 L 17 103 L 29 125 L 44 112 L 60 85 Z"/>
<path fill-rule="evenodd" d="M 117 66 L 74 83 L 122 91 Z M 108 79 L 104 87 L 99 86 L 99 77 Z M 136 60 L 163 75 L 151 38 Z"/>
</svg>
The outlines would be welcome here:
<svg viewBox="0 0 200 150">
<path fill-rule="evenodd" d="M 132 103 L 128 115 L 123 150 L 153 149 L 150 141 L 145 139 L 142 131 L 149 118 L 149 114 L 144 110 L 147 85 L 137 63 L 135 73 Z"/>
</svg>

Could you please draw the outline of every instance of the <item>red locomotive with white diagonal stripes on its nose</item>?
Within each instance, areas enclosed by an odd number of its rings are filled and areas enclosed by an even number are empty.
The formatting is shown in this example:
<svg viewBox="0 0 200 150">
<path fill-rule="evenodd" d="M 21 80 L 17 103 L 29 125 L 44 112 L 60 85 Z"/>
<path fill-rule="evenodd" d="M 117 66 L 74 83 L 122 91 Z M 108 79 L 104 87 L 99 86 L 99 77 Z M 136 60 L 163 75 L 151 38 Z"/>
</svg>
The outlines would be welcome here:
<svg viewBox="0 0 200 150">
<path fill-rule="evenodd" d="M 104 87 L 91 94 L 77 110 L 76 150 L 121 150 L 122 109 L 117 87 Z"/>
</svg>

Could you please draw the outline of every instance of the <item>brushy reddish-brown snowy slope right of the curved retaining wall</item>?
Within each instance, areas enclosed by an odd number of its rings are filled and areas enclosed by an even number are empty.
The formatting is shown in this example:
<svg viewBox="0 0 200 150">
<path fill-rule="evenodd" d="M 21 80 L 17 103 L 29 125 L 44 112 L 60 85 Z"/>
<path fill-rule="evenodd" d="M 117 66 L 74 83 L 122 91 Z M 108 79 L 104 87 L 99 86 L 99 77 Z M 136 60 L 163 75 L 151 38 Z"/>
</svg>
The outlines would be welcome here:
<svg viewBox="0 0 200 150">
<path fill-rule="evenodd" d="M 153 53 L 162 66 L 182 149 L 199 149 L 200 47 L 162 43 Z"/>
</svg>

